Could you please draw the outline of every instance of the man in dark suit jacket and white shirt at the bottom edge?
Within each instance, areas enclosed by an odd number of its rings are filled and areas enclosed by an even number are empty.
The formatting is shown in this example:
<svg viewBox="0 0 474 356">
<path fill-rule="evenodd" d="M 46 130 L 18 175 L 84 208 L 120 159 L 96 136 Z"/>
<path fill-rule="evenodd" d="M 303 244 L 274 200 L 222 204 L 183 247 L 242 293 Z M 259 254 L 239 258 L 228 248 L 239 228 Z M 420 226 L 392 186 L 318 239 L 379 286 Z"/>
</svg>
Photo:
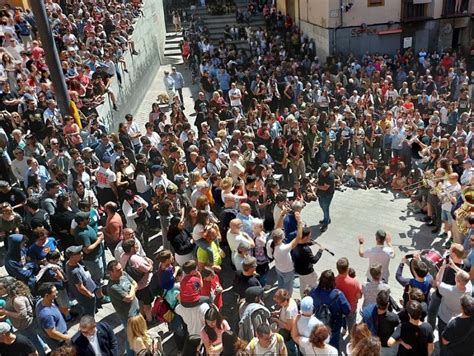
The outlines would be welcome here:
<svg viewBox="0 0 474 356">
<path fill-rule="evenodd" d="M 118 344 L 113 329 L 107 323 L 96 323 L 93 316 L 84 315 L 72 343 L 78 356 L 116 356 Z"/>
</svg>

